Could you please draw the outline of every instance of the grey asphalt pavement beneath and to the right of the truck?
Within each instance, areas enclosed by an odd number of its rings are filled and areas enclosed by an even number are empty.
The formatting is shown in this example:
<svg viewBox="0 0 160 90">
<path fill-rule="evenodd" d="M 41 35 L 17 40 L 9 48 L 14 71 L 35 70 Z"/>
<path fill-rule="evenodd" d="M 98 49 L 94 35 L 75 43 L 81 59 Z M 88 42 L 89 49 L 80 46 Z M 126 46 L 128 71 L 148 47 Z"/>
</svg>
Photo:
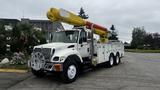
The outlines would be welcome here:
<svg viewBox="0 0 160 90">
<path fill-rule="evenodd" d="M 86 72 L 71 84 L 32 75 L 8 90 L 160 90 L 160 54 L 126 52 L 120 65 Z"/>
</svg>

